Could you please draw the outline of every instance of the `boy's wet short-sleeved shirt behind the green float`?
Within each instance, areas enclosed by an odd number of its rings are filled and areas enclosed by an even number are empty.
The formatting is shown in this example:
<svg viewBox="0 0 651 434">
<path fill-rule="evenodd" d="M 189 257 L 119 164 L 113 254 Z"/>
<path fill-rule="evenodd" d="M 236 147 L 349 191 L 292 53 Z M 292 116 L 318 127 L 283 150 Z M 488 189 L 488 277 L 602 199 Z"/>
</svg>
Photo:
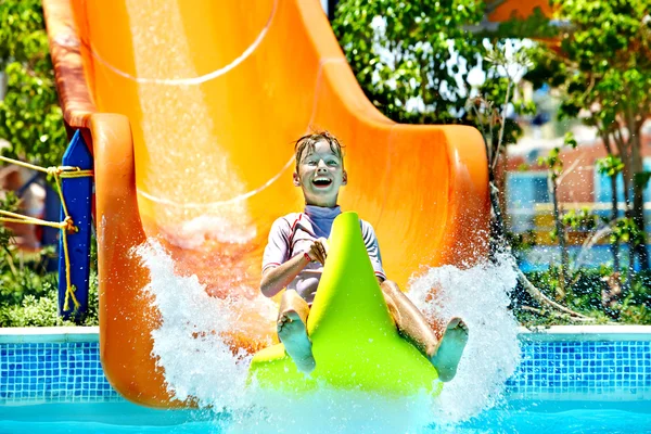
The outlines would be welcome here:
<svg viewBox="0 0 651 434">
<path fill-rule="evenodd" d="M 277 219 L 271 226 L 269 241 L 265 247 L 263 272 L 308 252 L 317 239 L 330 237 L 332 222 L 340 214 L 342 210 L 339 206 L 327 208 L 307 205 L 304 213 L 292 213 Z M 360 226 L 375 276 L 385 280 L 375 231 L 369 222 L 361 219 Z M 311 303 L 322 272 L 323 266 L 320 263 L 310 263 L 288 284 L 288 290 L 295 290 L 307 303 Z"/>
</svg>

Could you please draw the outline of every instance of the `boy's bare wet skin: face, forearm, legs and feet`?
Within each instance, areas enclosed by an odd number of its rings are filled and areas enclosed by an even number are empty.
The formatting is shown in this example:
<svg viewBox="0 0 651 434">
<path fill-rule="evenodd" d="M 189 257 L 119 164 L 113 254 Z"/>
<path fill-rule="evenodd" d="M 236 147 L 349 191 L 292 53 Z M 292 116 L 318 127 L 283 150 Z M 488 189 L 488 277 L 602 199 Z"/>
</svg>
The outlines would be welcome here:
<svg viewBox="0 0 651 434">
<path fill-rule="evenodd" d="M 348 176 L 341 154 L 333 152 L 326 141 L 319 141 L 312 152 L 305 152 L 301 156 L 293 180 L 294 186 L 303 190 L 306 204 L 333 207 L 336 206 L 340 188 L 348 182 Z M 309 258 L 296 255 L 279 267 L 267 269 L 260 282 L 263 293 L 267 296 L 277 294 L 310 261 L 324 265 L 328 241 L 322 238 L 314 241 L 306 253 Z M 465 323 L 460 318 L 452 318 L 441 340 L 437 340 L 420 310 L 397 284 L 388 280 L 380 281 L 380 288 L 400 334 L 430 360 L 438 371 L 441 381 L 452 380 L 468 342 Z M 277 321 L 278 336 L 298 370 L 305 373 L 316 367 L 306 329 L 308 315 L 307 303 L 295 291 L 285 291 Z"/>
</svg>

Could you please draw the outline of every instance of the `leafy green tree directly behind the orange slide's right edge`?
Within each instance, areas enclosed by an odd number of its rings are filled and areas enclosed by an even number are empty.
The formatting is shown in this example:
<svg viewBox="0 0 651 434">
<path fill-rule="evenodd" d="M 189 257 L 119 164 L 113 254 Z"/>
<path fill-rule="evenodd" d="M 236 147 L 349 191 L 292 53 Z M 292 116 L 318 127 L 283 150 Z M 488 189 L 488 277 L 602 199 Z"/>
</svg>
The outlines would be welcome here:
<svg viewBox="0 0 651 434">
<path fill-rule="evenodd" d="M 332 25 L 367 97 L 386 116 L 482 130 L 495 240 L 505 232 L 505 182 L 498 161 L 522 133 L 506 114 L 512 108 L 521 113 L 527 104 L 513 98 L 518 80 L 510 76 L 508 64 L 513 62 L 505 55 L 509 41 L 467 30 L 478 28 L 484 10 L 484 2 L 474 0 L 342 0 Z M 481 85 L 469 81 L 472 68 L 484 75 Z"/>
</svg>

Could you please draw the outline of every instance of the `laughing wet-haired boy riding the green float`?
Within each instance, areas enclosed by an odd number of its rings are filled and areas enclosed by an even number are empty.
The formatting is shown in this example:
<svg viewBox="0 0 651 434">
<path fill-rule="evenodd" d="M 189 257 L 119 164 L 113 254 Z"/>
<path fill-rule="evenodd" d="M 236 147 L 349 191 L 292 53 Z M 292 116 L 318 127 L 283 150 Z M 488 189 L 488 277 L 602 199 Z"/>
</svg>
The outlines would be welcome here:
<svg viewBox="0 0 651 434">
<path fill-rule="evenodd" d="M 339 190 L 348 182 L 348 175 L 342 146 L 327 131 L 302 137 L 295 151 L 294 186 L 303 190 L 306 208 L 273 222 L 263 258 L 260 291 L 271 297 L 286 288 L 280 303 L 278 336 L 296 367 L 309 373 L 316 362 L 306 331 L 307 316 L 328 258 L 327 238 L 341 214 Z M 398 331 L 432 362 L 441 381 L 450 381 L 468 341 L 465 323 L 452 318 L 438 341 L 418 308 L 386 279 L 375 233 L 363 220 L 361 233 Z"/>
</svg>

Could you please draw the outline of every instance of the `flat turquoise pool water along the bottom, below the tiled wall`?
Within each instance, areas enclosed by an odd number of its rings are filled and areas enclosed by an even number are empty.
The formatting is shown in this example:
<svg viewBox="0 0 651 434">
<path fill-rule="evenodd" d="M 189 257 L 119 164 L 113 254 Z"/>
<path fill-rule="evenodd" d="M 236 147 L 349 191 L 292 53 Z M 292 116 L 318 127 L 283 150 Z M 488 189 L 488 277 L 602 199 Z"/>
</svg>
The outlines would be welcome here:
<svg viewBox="0 0 651 434">
<path fill-rule="evenodd" d="M 315 421 L 315 432 L 333 430 Z M 43 404 L 0 407 L 0 433 L 227 433 L 228 418 L 208 410 L 153 410 L 129 403 Z M 246 431 L 253 432 L 253 431 Z M 264 424 L 259 433 L 267 433 Z M 369 432 L 369 431 L 366 431 Z M 384 432 L 378 426 L 375 432 Z M 509 401 L 476 418 L 431 425 L 422 433 L 651 433 L 651 401 Z"/>
</svg>

